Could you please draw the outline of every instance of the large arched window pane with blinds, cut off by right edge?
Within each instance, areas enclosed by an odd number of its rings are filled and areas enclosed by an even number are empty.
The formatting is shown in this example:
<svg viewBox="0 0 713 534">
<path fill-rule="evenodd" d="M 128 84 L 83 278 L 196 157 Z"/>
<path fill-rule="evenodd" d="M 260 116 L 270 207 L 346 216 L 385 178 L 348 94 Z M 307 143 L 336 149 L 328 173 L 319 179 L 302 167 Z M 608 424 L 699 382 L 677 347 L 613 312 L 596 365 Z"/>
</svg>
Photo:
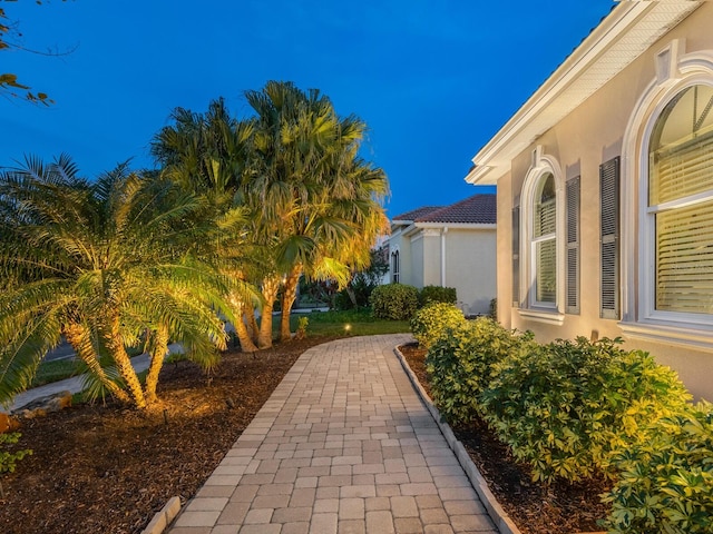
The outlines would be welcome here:
<svg viewBox="0 0 713 534">
<path fill-rule="evenodd" d="M 713 314 L 712 108 L 713 87 L 690 86 L 663 108 L 649 138 L 643 246 L 654 267 L 649 313 L 660 318 Z"/>
</svg>

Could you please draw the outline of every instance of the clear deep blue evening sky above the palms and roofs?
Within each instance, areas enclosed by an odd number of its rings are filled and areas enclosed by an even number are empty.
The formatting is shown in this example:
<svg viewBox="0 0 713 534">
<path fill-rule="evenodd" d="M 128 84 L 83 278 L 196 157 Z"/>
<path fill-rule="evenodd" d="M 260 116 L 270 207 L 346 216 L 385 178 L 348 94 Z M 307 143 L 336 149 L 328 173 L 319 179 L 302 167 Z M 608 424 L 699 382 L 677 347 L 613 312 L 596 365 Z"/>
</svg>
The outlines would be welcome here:
<svg viewBox="0 0 713 534">
<path fill-rule="evenodd" d="M 477 189 L 472 156 L 612 9 L 612 0 L 0 0 L 21 44 L 0 72 L 49 108 L 0 98 L 0 166 L 67 152 L 92 177 L 133 158 L 175 107 L 225 97 L 237 116 L 267 80 L 319 88 L 369 125 L 390 216 Z"/>
</svg>

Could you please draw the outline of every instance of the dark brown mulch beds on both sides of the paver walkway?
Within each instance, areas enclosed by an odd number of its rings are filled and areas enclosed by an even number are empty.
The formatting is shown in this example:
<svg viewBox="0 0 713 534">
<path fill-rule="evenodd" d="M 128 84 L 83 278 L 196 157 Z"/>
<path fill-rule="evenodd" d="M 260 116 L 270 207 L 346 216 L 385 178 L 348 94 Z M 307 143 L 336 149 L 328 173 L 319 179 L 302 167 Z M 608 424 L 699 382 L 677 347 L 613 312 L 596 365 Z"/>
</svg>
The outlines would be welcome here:
<svg viewBox="0 0 713 534">
<path fill-rule="evenodd" d="M 19 448 L 33 454 L 0 477 L 3 534 L 140 533 L 173 496 L 189 500 L 215 469 L 300 355 L 330 338 L 228 352 L 211 376 L 189 362 L 168 364 L 160 409 L 78 405 L 26 419 Z M 423 352 L 403 347 L 427 386 Z M 485 427 L 457 429 L 490 488 L 525 534 L 595 531 L 604 486 L 529 484 Z"/>
</svg>

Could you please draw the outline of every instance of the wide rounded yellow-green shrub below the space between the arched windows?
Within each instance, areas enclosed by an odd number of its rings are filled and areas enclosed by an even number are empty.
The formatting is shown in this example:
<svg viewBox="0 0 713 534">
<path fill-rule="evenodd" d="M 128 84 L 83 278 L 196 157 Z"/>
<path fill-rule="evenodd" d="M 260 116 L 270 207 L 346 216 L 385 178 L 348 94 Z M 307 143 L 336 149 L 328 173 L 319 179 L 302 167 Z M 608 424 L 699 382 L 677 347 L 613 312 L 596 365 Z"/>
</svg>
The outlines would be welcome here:
<svg viewBox="0 0 713 534">
<path fill-rule="evenodd" d="M 535 481 L 612 476 L 614 452 L 647 439 L 647 423 L 685 405 L 690 396 L 671 369 L 618 343 L 533 344 L 494 369 L 485 418 Z"/>
</svg>

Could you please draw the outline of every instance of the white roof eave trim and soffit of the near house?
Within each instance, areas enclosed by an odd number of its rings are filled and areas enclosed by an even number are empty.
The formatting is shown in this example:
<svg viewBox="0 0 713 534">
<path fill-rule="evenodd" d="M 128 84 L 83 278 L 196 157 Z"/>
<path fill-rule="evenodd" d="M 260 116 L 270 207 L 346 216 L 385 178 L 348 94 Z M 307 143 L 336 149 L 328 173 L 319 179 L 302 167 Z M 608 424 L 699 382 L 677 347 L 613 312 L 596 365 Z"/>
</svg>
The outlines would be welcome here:
<svg viewBox="0 0 713 534">
<path fill-rule="evenodd" d="M 705 0 L 622 0 L 472 158 L 470 184 L 496 184 L 511 160 Z M 556 103 L 556 105 L 555 105 Z"/>
</svg>

